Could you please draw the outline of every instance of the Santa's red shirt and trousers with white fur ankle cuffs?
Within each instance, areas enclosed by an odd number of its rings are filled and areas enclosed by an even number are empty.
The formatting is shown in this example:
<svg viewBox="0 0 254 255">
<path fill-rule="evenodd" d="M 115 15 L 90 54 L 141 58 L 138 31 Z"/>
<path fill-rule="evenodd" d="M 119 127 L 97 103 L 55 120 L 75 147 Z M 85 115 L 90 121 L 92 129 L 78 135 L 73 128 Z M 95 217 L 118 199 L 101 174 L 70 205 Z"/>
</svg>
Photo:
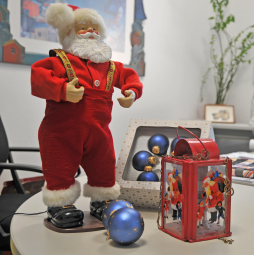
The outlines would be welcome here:
<svg viewBox="0 0 254 255">
<path fill-rule="evenodd" d="M 114 87 L 132 90 L 139 98 L 142 83 L 133 69 L 115 62 L 110 91 L 105 91 L 109 62 L 93 63 L 67 54 L 85 88 L 78 103 L 66 101 L 68 81 L 58 57 L 32 65 L 32 94 L 46 99 L 45 117 L 39 128 L 43 174 L 47 187 L 43 200 L 47 206 L 72 204 L 80 187 L 74 175 L 81 165 L 88 177 L 84 195 L 92 200 L 115 199 L 120 194 L 115 182 L 115 153 L 109 130 Z M 96 188 L 96 189 L 93 189 Z"/>
</svg>

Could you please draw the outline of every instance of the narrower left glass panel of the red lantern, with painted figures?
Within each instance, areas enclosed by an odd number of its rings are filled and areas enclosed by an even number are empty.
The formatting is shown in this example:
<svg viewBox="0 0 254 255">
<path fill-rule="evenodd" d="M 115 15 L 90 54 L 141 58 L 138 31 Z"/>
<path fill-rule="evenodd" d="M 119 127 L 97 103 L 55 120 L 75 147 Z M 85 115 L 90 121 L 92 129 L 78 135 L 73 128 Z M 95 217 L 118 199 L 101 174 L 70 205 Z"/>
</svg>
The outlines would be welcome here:
<svg viewBox="0 0 254 255">
<path fill-rule="evenodd" d="M 164 229 L 182 237 L 182 165 L 165 163 L 164 195 Z M 184 210 L 184 209 L 183 209 Z"/>
</svg>

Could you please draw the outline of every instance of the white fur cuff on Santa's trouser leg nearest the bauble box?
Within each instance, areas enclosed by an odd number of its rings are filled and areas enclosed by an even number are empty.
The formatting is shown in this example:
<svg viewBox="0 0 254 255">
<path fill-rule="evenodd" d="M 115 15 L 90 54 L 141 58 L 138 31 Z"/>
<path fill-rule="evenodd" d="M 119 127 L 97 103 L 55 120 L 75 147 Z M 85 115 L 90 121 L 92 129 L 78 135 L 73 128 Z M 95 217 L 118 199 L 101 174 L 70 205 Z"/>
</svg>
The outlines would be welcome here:
<svg viewBox="0 0 254 255">
<path fill-rule="evenodd" d="M 120 196 L 120 186 L 116 182 L 113 187 L 92 187 L 89 184 L 84 184 L 83 195 L 85 197 L 90 197 L 94 201 L 104 201 L 108 199 L 117 199 Z"/>
</svg>

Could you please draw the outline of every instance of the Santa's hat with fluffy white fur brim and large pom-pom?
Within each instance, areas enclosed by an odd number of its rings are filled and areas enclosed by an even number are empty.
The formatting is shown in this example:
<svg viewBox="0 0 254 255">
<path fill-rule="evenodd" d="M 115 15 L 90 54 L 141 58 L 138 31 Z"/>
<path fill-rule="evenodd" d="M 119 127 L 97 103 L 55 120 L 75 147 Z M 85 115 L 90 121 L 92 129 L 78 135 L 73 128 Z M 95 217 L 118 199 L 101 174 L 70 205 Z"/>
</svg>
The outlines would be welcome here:
<svg viewBox="0 0 254 255">
<path fill-rule="evenodd" d="M 74 5 L 55 3 L 50 4 L 46 12 L 46 22 L 57 29 L 59 42 L 73 28 L 75 24 L 90 21 L 98 25 L 101 39 L 106 37 L 106 27 L 103 18 L 97 11 L 88 8 L 79 8 Z"/>
</svg>

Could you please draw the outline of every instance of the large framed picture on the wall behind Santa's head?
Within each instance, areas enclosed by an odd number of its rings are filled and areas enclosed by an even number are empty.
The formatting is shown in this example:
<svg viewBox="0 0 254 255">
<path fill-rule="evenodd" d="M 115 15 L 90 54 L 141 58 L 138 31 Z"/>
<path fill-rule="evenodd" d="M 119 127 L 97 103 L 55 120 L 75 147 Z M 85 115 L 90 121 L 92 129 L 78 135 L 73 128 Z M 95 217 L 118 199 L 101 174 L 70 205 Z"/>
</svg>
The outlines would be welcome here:
<svg viewBox="0 0 254 255">
<path fill-rule="evenodd" d="M 107 27 L 105 42 L 112 59 L 130 63 L 134 0 L 0 0 L 0 62 L 31 65 L 50 49 L 61 48 L 56 30 L 45 20 L 49 4 L 55 2 L 96 9 Z"/>
</svg>

